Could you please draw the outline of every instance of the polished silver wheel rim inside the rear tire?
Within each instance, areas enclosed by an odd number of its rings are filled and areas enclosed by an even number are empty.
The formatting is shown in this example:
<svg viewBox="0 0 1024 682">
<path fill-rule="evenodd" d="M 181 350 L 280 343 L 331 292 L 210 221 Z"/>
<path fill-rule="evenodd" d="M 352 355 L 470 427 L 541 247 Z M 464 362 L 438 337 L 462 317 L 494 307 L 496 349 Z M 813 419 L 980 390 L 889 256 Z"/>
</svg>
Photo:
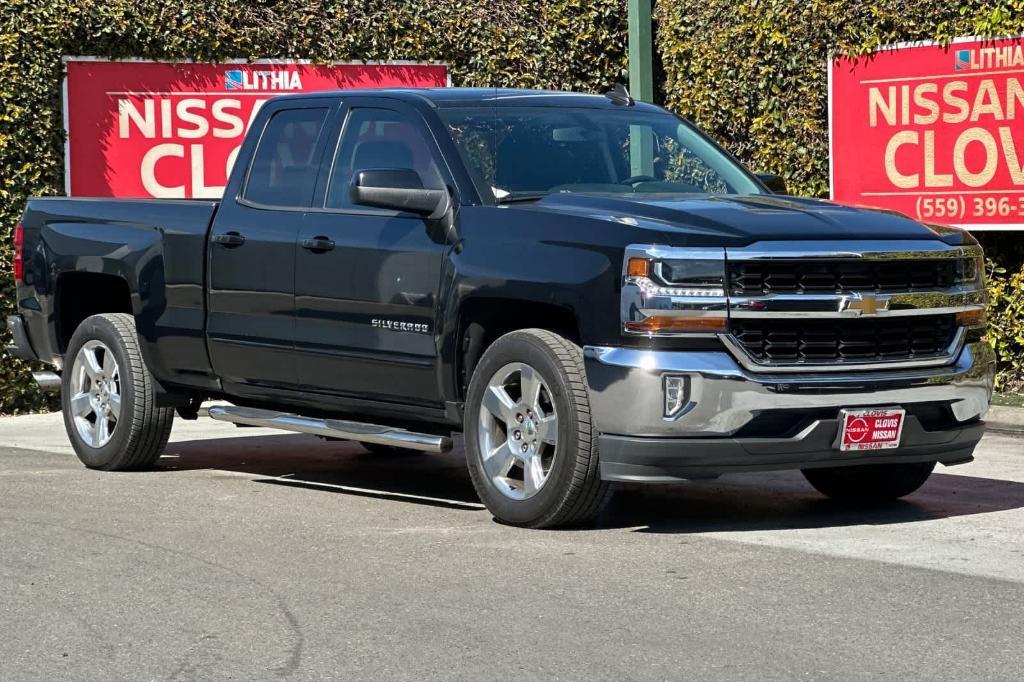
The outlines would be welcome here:
<svg viewBox="0 0 1024 682">
<path fill-rule="evenodd" d="M 100 341 L 88 341 L 71 369 L 71 413 L 82 441 L 102 447 L 121 419 L 121 376 L 114 353 Z"/>
</svg>

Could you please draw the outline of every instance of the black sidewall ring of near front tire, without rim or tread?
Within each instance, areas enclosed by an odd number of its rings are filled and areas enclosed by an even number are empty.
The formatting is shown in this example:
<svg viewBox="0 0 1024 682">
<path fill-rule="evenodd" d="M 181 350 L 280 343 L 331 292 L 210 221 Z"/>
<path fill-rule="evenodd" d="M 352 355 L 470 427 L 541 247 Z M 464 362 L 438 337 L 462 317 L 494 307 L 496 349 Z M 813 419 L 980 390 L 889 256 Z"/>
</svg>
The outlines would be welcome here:
<svg viewBox="0 0 1024 682">
<path fill-rule="evenodd" d="M 498 370 L 510 363 L 525 363 L 540 373 L 558 415 L 558 443 L 551 472 L 537 495 L 512 500 L 499 491 L 483 471 L 479 447 L 480 410 L 483 391 Z M 512 333 L 496 341 L 473 372 L 467 395 L 465 418 L 466 463 L 477 493 L 487 509 L 501 521 L 531 524 L 558 509 L 572 481 L 577 451 L 579 415 L 569 397 L 568 378 L 558 357 L 543 341 L 525 333 Z"/>
</svg>

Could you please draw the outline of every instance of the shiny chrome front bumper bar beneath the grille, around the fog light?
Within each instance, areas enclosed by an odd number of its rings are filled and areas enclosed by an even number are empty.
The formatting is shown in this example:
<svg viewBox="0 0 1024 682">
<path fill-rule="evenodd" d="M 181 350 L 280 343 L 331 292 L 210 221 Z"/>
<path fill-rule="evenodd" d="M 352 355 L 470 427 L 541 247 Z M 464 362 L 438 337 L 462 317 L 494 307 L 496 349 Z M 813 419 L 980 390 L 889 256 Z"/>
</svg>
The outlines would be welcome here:
<svg viewBox="0 0 1024 682">
<path fill-rule="evenodd" d="M 757 415 L 775 410 L 857 408 L 946 402 L 956 420 L 988 410 L 995 357 L 984 343 L 965 346 L 955 361 L 842 374 L 803 368 L 801 374 L 752 373 L 723 351 L 675 352 L 640 348 L 584 348 L 591 410 L 601 433 L 698 437 L 732 435 Z M 682 414 L 666 419 L 663 378 L 689 378 Z"/>
</svg>

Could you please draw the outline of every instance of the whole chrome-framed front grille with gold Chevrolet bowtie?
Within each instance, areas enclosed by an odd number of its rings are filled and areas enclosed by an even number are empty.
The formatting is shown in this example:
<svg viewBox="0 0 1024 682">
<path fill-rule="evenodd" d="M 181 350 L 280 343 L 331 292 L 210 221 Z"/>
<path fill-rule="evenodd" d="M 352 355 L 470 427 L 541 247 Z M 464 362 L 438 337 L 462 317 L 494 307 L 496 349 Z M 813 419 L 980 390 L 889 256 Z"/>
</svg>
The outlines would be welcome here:
<svg viewBox="0 0 1024 682">
<path fill-rule="evenodd" d="M 984 329 L 981 263 L 975 245 L 927 241 L 727 248 L 720 338 L 756 372 L 952 363 Z"/>
</svg>

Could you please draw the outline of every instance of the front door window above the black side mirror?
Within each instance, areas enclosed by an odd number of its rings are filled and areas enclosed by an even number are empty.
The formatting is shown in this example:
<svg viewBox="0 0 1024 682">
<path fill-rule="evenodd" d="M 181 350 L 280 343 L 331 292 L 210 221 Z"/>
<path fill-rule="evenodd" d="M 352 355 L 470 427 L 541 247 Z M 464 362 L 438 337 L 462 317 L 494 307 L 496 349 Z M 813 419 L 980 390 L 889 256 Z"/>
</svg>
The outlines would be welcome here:
<svg viewBox="0 0 1024 682">
<path fill-rule="evenodd" d="M 355 171 L 411 168 L 423 186 L 444 186 L 431 142 L 404 115 L 389 109 L 353 109 L 345 123 L 331 170 L 327 208 L 353 208 L 349 183 Z"/>
</svg>

